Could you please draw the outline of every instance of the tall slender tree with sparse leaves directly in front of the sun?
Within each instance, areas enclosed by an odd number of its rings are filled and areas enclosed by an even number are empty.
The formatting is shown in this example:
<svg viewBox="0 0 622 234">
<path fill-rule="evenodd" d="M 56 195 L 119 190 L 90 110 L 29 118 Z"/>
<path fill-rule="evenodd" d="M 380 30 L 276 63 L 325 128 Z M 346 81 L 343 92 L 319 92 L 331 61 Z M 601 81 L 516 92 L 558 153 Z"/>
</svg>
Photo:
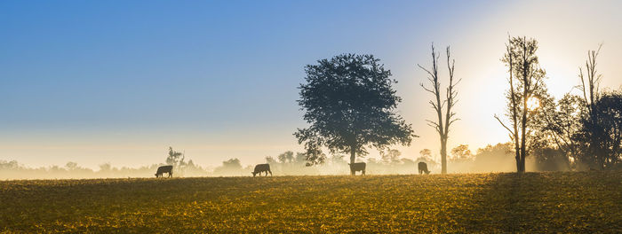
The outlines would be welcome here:
<svg viewBox="0 0 622 234">
<path fill-rule="evenodd" d="M 545 96 L 546 85 L 545 71 L 540 68 L 538 56 L 538 42 L 526 37 L 512 37 L 506 44 L 506 54 L 501 60 L 509 68 L 508 79 L 510 88 L 506 93 L 507 110 L 506 116 L 510 120 L 508 127 L 498 115 L 495 118 L 509 132 L 510 139 L 514 140 L 516 171 L 525 171 L 525 158 L 529 152 L 530 121 L 538 105 L 530 106 L 530 103 L 538 103 Z M 520 129 L 520 131 L 519 131 Z"/>
</svg>

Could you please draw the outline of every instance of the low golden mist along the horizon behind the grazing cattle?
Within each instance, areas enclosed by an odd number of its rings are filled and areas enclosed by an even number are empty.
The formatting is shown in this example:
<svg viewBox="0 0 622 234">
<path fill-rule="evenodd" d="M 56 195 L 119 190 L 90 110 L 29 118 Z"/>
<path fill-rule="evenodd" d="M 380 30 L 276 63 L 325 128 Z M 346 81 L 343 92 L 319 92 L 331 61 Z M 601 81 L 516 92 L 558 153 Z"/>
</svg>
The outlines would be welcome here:
<svg viewBox="0 0 622 234">
<path fill-rule="evenodd" d="M 367 164 L 366 175 L 411 175 L 417 174 L 417 164 L 426 162 L 431 174 L 441 172 L 440 163 L 430 155 L 417 157 L 401 155 L 401 152 L 392 150 L 381 153 L 381 158 L 365 157 L 357 159 Z M 280 175 L 349 175 L 350 169 L 346 156 L 331 155 L 323 164 L 307 166 L 304 153 L 283 152 L 275 157 L 267 156 L 265 163 L 270 165 L 273 176 Z M 167 163 L 168 162 L 168 163 Z M 568 162 L 562 160 L 538 163 L 534 157 L 527 158 L 528 171 L 570 170 Z M 203 176 L 252 176 L 254 164 L 245 163 L 239 159 L 229 159 L 218 167 L 196 165 L 192 160 L 183 161 L 164 159 L 159 164 L 129 168 L 113 167 L 109 163 L 100 164 L 99 168 L 84 168 L 76 162 L 68 162 L 64 166 L 51 165 L 48 167 L 30 168 L 20 165 L 17 160 L 0 160 L 0 180 L 20 179 L 92 179 L 92 178 L 149 178 L 155 177 L 159 166 L 173 164 L 173 177 L 203 177 Z M 514 152 L 511 144 L 488 145 L 477 150 L 474 155 L 457 156 L 448 160 L 449 173 L 492 173 L 514 172 Z"/>
</svg>

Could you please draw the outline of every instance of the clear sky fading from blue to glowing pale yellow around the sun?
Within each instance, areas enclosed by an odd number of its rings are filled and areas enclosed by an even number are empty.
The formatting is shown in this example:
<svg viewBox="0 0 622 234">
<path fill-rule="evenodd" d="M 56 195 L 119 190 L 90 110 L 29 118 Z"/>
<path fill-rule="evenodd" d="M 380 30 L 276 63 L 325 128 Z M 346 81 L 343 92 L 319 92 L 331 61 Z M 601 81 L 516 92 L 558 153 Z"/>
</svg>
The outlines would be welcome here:
<svg viewBox="0 0 622 234">
<path fill-rule="evenodd" d="M 507 142 L 508 35 L 538 40 L 550 93 L 577 93 L 602 43 L 602 88 L 622 88 L 620 1 L 2 1 L 0 160 L 28 167 L 162 163 L 169 146 L 206 167 L 301 152 L 304 66 L 373 54 L 392 71 L 414 160 L 439 139 L 416 65 L 451 45 L 461 119 L 449 148 Z M 447 79 L 442 64 L 443 81 Z M 446 84 L 446 82 L 443 82 Z M 371 151 L 369 157 L 377 152 Z"/>
</svg>

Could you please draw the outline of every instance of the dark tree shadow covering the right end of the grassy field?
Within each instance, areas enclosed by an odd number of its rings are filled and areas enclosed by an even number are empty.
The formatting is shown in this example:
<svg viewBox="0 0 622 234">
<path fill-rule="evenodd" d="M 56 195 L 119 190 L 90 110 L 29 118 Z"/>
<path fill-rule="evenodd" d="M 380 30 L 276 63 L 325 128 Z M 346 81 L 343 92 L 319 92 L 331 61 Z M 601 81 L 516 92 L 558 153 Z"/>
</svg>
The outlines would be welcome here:
<svg viewBox="0 0 622 234">
<path fill-rule="evenodd" d="M 619 172 L 492 174 L 474 194 L 466 231 L 619 232 Z M 469 218 L 470 217 L 470 218 Z"/>
</svg>

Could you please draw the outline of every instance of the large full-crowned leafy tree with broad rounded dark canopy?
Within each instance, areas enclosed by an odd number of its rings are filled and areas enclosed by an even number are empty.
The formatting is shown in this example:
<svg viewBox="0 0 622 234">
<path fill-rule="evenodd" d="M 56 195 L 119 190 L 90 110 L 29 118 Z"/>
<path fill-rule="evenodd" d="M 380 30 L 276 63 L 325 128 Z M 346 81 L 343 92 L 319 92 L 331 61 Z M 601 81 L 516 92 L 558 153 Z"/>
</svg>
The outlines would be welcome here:
<svg viewBox="0 0 622 234">
<path fill-rule="evenodd" d="M 372 55 L 342 54 L 307 65 L 298 103 L 311 124 L 294 136 L 305 144 L 307 165 L 323 163 L 323 147 L 332 154 L 366 155 L 369 147 L 410 145 L 411 124 L 395 112 L 402 101 L 395 95 L 391 72 Z M 351 171 L 354 175 L 354 171 Z"/>
</svg>

